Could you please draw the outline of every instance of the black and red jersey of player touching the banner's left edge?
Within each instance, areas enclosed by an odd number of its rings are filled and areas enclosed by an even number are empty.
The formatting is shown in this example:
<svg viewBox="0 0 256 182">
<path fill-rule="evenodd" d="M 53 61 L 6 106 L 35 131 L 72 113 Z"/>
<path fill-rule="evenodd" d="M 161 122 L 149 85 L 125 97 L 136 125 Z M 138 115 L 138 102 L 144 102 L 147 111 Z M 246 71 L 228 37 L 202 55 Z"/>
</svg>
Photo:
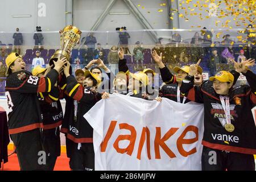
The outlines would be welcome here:
<svg viewBox="0 0 256 182">
<path fill-rule="evenodd" d="M 84 88 L 72 76 L 67 77 L 66 93 L 73 98 L 73 118 L 68 119 L 68 139 L 75 143 L 92 143 L 93 128 L 84 118 L 84 114 L 101 100 L 101 94 L 93 88 Z"/>
</svg>

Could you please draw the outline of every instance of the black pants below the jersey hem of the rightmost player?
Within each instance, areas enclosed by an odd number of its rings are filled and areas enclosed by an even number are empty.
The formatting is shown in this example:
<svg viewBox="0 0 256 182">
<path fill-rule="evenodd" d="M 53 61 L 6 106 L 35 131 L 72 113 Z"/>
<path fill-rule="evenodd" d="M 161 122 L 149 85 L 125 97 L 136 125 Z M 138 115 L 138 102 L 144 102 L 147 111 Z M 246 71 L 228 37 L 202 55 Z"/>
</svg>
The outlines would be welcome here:
<svg viewBox="0 0 256 182">
<path fill-rule="evenodd" d="M 254 171 L 255 161 L 251 154 L 240 154 L 203 147 L 203 171 Z"/>
</svg>

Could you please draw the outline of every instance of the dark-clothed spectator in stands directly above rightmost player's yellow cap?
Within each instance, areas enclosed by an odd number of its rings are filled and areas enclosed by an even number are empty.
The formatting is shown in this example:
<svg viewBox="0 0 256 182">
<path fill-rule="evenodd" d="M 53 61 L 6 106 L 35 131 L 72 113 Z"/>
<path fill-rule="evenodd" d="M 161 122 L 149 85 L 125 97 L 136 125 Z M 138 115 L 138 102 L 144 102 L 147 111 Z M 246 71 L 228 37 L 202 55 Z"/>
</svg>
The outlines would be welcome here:
<svg viewBox="0 0 256 182">
<path fill-rule="evenodd" d="M 218 55 L 218 49 L 216 47 L 212 48 L 212 55 L 208 61 L 208 67 L 210 69 L 210 76 L 216 74 L 216 64 L 224 63 L 222 56 Z"/>
</svg>

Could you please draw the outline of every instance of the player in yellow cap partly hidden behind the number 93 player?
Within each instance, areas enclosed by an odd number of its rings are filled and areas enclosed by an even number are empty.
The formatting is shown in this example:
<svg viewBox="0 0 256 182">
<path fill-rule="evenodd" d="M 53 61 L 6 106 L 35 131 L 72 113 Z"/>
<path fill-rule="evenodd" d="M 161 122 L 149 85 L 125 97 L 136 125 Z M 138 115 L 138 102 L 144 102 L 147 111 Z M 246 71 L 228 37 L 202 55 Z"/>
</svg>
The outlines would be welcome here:
<svg viewBox="0 0 256 182">
<path fill-rule="evenodd" d="M 35 67 L 32 75 L 39 78 L 47 75 L 51 68 Z M 42 142 L 46 152 L 47 170 L 52 171 L 57 156 L 60 156 L 60 125 L 63 121 L 63 110 L 60 104 L 60 88 L 57 83 L 49 93 L 38 93 L 39 104 L 42 111 L 43 131 Z"/>
</svg>

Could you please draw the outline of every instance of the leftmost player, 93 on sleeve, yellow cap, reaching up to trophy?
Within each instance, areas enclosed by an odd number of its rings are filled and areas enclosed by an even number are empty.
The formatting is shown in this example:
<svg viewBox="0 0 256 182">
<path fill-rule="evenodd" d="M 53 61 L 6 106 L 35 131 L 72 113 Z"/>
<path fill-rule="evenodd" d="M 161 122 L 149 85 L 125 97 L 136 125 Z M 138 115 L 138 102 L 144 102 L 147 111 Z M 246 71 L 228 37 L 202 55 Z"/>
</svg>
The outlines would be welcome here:
<svg viewBox="0 0 256 182">
<path fill-rule="evenodd" d="M 37 93 L 51 92 L 59 71 L 67 63 L 57 60 L 46 77 L 35 77 L 25 70 L 26 64 L 18 53 L 6 57 L 6 97 L 9 105 L 9 133 L 16 147 L 21 170 L 44 169 L 38 162 L 43 155 L 40 127 L 43 127 Z"/>
</svg>

